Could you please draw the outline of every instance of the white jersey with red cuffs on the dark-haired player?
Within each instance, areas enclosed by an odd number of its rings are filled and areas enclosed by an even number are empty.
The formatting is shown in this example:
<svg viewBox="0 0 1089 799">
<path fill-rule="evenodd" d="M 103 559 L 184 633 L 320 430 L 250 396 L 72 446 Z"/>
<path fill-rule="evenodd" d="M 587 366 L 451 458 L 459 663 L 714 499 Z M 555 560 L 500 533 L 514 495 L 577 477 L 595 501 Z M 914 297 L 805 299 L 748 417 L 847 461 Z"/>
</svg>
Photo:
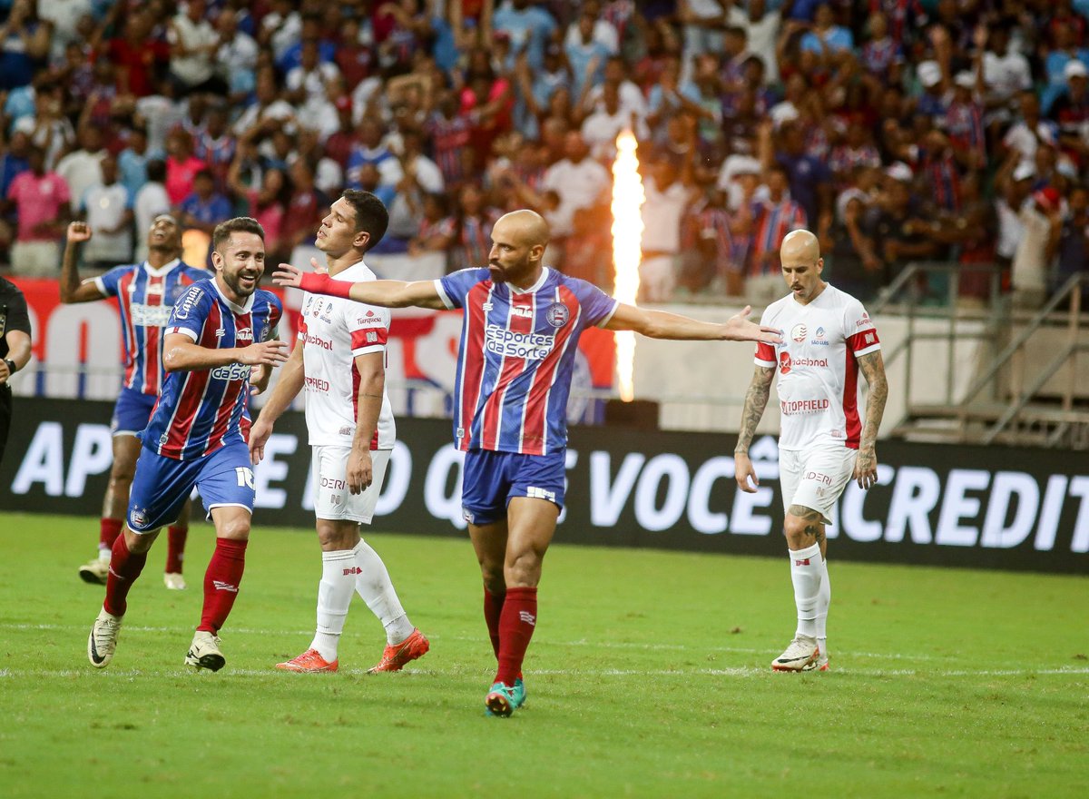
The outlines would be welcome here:
<svg viewBox="0 0 1089 799">
<path fill-rule="evenodd" d="M 374 280 L 362 261 L 337 273 L 333 280 Z M 359 372 L 356 355 L 386 352 L 390 311 L 360 302 L 305 293 L 298 339 L 303 346 L 306 427 L 311 446 L 352 446 L 358 419 Z M 382 390 L 382 411 L 371 449 L 392 449 L 396 438 L 390 398 Z"/>
</svg>

